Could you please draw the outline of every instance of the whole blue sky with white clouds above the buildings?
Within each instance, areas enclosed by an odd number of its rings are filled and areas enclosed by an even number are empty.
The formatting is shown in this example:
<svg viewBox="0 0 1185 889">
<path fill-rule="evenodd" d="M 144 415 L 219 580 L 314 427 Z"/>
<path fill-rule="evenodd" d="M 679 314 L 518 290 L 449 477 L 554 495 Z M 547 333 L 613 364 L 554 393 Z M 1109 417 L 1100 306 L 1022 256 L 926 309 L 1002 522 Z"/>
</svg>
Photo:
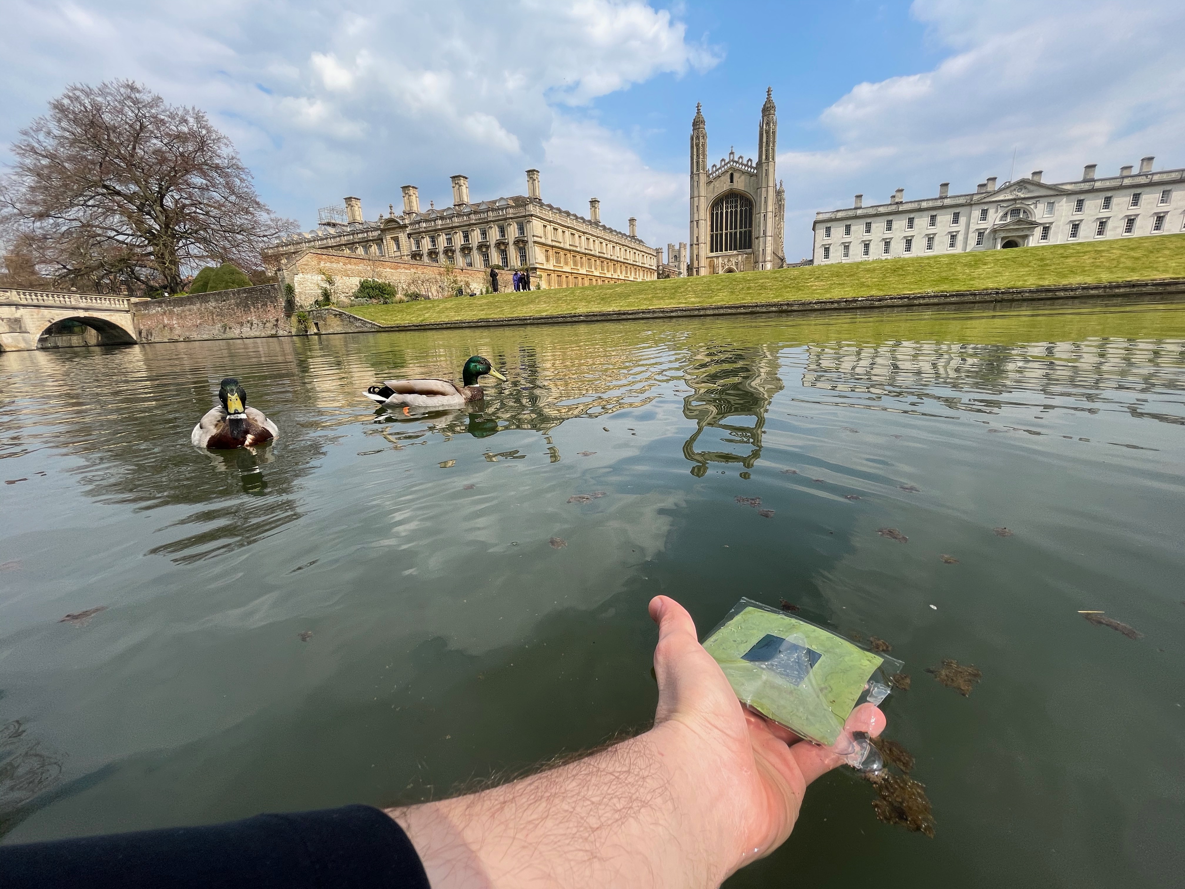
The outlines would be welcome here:
<svg viewBox="0 0 1185 889">
<path fill-rule="evenodd" d="M 2 0 L 0 145 L 71 82 L 130 77 L 204 108 L 264 200 L 308 229 L 346 194 L 367 218 L 523 193 L 652 244 L 686 241 L 687 137 L 754 153 L 779 110 L 787 254 L 816 210 L 974 190 L 1146 154 L 1185 166 L 1181 0 L 645 2 Z M 6 159 L 0 151 L 0 162 Z"/>
</svg>

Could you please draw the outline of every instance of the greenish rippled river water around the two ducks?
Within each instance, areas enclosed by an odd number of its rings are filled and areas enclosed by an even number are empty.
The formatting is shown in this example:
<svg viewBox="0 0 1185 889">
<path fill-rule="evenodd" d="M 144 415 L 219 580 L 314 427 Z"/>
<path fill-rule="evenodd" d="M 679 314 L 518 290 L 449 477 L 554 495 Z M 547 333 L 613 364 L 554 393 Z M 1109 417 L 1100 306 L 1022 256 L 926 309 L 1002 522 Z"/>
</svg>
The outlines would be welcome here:
<svg viewBox="0 0 1185 889">
<path fill-rule="evenodd" d="M 360 395 L 474 353 L 481 414 Z M 258 455 L 188 443 L 228 375 Z M 702 632 L 787 600 L 912 677 L 886 736 L 934 839 L 840 770 L 730 885 L 1185 880 L 1183 303 L 6 353 L 0 411 L 4 842 L 418 800 L 643 728 L 665 593 Z"/>
</svg>

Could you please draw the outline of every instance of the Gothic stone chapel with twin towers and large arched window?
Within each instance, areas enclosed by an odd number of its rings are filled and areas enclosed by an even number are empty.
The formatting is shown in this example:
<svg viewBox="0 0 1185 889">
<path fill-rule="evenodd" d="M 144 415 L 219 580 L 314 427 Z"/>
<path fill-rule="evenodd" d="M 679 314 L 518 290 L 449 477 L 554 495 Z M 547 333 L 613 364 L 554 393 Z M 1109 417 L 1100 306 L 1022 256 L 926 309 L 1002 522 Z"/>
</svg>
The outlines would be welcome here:
<svg viewBox="0 0 1185 889">
<path fill-rule="evenodd" d="M 707 124 L 696 105 L 691 122 L 691 275 L 780 269 L 786 264 L 786 190 L 777 181 L 777 108 L 766 90 L 757 158 L 729 151 L 707 164 Z"/>
</svg>

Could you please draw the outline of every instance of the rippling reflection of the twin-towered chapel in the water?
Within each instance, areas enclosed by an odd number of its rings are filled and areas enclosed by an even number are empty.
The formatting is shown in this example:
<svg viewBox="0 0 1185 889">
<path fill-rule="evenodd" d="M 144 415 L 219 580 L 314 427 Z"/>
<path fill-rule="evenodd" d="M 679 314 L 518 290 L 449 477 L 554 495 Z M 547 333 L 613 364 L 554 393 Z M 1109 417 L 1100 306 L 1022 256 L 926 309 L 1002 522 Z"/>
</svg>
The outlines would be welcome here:
<svg viewBox="0 0 1185 889">
<path fill-rule="evenodd" d="M 783 388 L 777 371 L 776 350 L 762 346 L 711 346 L 686 365 L 684 379 L 693 391 L 683 399 L 683 414 L 696 422 L 696 431 L 684 443 L 683 455 L 694 463 L 692 475 L 706 474 L 709 463 L 751 469 L 761 459 L 766 411 Z M 741 446 L 741 453 L 698 449 L 707 430 L 716 430 L 719 442 Z"/>
</svg>

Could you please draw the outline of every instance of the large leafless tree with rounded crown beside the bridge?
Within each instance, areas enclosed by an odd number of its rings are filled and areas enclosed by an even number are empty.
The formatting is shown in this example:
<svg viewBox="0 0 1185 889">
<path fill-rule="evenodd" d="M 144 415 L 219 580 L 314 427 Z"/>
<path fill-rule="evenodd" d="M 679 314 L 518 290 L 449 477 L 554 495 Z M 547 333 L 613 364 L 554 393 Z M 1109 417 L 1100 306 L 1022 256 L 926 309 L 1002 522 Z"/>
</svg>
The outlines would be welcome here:
<svg viewBox="0 0 1185 889">
<path fill-rule="evenodd" d="M 261 248 L 296 229 L 204 111 L 139 83 L 75 84 L 20 135 L 0 183 L 4 241 L 55 283 L 177 293 L 210 262 L 261 269 Z"/>
</svg>

